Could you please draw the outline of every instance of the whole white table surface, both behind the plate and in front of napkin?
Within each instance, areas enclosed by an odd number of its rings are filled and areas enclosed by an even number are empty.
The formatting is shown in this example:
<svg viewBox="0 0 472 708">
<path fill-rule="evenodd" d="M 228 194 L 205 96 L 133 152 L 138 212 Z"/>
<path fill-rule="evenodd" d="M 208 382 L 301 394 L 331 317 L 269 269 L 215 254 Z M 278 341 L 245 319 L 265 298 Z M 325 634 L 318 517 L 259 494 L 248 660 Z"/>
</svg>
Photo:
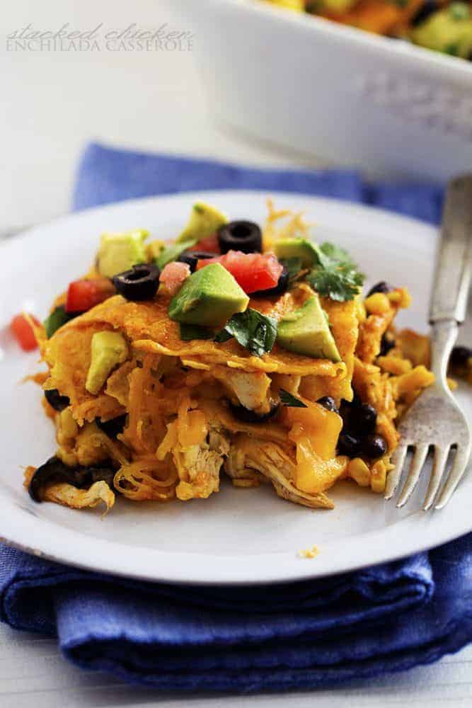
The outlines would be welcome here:
<svg viewBox="0 0 472 708">
<path fill-rule="evenodd" d="M 16 0 L 0 37 L 0 233 L 69 209 L 74 169 L 90 139 L 125 147 L 212 156 L 246 164 L 321 166 L 214 125 L 193 52 L 11 52 L 5 37 L 28 23 L 56 30 L 173 25 L 169 0 Z M 195 38 L 195 42 L 202 38 Z M 472 705 L 472 649 L 429 667 L 338 690 L 252 697 L 159 696 L 65 662 L 54 640 L 0 625 L 0 706 L 69 708 L 318 708 Z"/>
</svg>

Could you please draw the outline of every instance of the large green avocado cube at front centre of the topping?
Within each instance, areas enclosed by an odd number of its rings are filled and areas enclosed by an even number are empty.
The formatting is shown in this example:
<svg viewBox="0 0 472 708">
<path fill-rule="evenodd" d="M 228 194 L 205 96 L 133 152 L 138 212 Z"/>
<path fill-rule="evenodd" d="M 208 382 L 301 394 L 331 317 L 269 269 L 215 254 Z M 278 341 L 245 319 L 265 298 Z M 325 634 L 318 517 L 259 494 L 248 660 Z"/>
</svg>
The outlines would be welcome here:
<svg viewBox="0 0 472 708">
<path fill-rule="evenodd" d="M 244 312 L 249 298 L 221 263 L 210 263 L 185 280 L 171 299 L 168 315 L 186 324 L 216 327 L 236 312 Z"/>
</svg>

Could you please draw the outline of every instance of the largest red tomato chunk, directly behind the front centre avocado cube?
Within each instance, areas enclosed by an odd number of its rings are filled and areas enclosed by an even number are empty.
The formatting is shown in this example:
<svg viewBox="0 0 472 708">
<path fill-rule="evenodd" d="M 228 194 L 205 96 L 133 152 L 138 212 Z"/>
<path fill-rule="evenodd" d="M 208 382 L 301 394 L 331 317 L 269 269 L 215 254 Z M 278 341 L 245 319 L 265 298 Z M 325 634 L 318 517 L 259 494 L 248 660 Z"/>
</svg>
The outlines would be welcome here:
<svg viewBox="0 0 472 708">
<path fill-rule="evenodd" d="M 273 253 L 228 251 L 224 256 L 198 261 L 197 270 L 209 263 L 221 263 L 247 293 L 275 287 L 283 270 Z"/>
</svg>

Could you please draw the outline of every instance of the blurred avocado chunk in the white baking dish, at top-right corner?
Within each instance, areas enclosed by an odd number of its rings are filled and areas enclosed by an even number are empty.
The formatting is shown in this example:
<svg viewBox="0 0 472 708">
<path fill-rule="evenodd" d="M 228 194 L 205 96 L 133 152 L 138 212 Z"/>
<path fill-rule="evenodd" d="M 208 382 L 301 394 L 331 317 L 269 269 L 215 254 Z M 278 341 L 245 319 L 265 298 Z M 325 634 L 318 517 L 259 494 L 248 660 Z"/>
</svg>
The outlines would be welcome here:
<svg viewBox="0 0 472 708">
<path fill-rule="evenodd" d="M 433 13 L 412 30 L 411 38 L 421 47 L 467 59 L 472 51 L 472 17 L 468 4 L 453 2 Z"/>
</svg>

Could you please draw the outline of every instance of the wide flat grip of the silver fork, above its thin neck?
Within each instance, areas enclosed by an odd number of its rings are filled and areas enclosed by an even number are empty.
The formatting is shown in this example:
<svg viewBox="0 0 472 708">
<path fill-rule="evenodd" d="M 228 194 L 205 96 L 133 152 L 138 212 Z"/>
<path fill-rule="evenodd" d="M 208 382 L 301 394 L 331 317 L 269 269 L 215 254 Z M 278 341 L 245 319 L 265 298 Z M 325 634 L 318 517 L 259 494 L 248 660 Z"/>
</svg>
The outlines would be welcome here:
<svg viewBox="0 0 472 708">
<path fill-rule="evenodd" d="M 472 175 L 449 182 L 436 258 L 430 323 L 466 319 L 472 268 Z"/>
</svg>

